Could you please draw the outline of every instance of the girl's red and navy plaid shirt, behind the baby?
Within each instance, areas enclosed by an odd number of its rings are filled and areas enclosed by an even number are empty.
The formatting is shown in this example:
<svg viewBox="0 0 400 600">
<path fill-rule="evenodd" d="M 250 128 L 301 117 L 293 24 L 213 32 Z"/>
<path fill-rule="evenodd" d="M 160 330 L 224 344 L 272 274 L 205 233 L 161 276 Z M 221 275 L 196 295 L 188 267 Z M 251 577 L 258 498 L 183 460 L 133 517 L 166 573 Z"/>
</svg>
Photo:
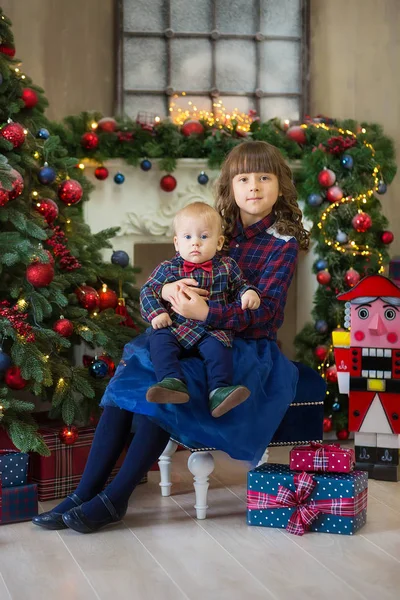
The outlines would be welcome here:
<svg viewBox="0 0 400 600">
<path fill-rule="evenodd" d="M 246 229 L 239 220 L 230 242 L 229 256 L 238 263 L 247 281 L 256 286 L 261 294 L 261 305 L 257 310 L 243 311 L 238 302 L 221 306 L 211 300 L 204 324 L 232 329 L 243 338 L 275 340 L 283 323 L 298 251 L 295 238 L 283 236 L 274 229 L 272 214 Z"/>
</svg>

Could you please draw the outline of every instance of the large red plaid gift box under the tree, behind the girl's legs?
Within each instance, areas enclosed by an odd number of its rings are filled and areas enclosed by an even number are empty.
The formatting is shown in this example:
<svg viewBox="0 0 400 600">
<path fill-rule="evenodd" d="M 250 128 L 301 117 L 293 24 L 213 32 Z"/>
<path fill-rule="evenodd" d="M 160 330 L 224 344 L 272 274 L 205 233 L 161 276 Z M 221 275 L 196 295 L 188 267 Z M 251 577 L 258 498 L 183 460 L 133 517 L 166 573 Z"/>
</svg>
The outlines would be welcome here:
<svg viewBox="0 0 400 600">
<path fill-rule="evenodd" d="M 95 432 L 94 427 L 78 427 L 74 444 L 64 444 L 59 438 L 60 425 L 40 428 L 51 456 L 32 453 L 29 460 L 29 480 L 37 483 L 39 500 L 53 500 L 68 496 L 77 487 L 89 456 Z M 124 460 L 123 452 L 112 470 L 109 481 L 118 473 Z M 147 481 L 144 477 L 141 483 Z"/>
</svg>

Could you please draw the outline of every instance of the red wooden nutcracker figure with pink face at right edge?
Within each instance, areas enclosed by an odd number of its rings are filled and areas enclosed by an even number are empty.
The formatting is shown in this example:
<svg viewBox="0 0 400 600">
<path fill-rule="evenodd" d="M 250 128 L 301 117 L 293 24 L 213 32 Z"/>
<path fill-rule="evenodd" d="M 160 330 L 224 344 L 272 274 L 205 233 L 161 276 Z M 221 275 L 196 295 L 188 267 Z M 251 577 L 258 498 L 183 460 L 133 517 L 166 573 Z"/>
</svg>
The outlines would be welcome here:
<svg viewBox="0 0 400 600">
<path fill-rule="evenodd" d="M 346 325 L 332 333 L 339 392 L 349 395 L 356 468 L 398 481 L 400 451 L 400 288 L 382 275 L 348 292 Z"/>
</svg>

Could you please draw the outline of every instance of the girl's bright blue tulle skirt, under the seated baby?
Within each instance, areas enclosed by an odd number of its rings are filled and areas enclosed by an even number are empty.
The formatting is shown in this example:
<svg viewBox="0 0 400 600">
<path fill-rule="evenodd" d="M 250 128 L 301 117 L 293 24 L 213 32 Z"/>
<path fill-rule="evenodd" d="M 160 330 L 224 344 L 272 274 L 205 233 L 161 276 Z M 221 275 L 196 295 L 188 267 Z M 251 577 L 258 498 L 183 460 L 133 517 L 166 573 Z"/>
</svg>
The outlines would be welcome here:
<svg viewBox="0 0 400 600">
<path fill-rule="evenodd" d="M 206 372 L 200 358 L 182 359 L 190 400 L 186 404 L 153 404 L 146 391 L 157 380 L 150 360 L 151 329 L 124 348 L 101 406 L 119 406 L 148 415 L 174 439 L 217 448 L 232 458 L 257 463 L 270 443 L 296 394 L 298 369 L 270 340 L 236 338 L 233 346 L 234 381 L 251 396 L 218 419 L 208 407 Z"/>
</svg>

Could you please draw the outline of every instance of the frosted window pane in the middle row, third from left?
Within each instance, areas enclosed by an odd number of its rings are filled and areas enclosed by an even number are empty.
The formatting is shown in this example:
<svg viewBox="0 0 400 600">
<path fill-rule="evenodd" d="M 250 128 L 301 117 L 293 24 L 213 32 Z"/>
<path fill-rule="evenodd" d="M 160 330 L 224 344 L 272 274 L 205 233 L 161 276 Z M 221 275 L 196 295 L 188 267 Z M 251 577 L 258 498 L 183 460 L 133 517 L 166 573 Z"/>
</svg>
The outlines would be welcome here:
<svg viewBox="0 0 400 600">
<path fill-rule="evenodd" d="M 256 87 L 254 42 L 219 40 L 215 56 L 217 88 L 221 92 L 254 92 Z"/>
</svg>

